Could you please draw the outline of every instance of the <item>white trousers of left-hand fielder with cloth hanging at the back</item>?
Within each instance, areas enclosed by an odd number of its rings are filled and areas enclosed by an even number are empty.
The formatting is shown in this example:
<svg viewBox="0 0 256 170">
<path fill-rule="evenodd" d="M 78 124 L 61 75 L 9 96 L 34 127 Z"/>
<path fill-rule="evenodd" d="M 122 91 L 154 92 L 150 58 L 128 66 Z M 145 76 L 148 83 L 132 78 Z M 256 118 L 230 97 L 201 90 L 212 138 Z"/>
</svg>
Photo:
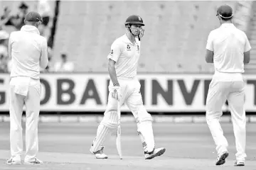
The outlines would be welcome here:
<svg viewBox="0 0 256 170">
<path fill-rule="evenodd" d="M 14 77 L 10 81 L 10 142 L 11 157 L 21 157 L 23 137 L 21 117 L 26 105 L 26 157 L 30 160 L 38 153 L 38 116 L 41 83 L 38 79 Z"/>
</svg>

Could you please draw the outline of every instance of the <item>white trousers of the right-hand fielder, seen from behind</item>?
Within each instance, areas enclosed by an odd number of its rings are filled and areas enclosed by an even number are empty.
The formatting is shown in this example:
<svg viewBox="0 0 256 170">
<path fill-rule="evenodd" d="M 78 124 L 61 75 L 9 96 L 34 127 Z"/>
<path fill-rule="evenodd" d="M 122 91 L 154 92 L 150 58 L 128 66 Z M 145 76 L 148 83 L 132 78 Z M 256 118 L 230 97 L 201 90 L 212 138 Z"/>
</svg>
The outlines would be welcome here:
<svg viewBox="0 0 256 170">
<path fill-rule="evenodd" d="M 228 100 L 235 134 L 237 160 L 245 161 L 246 118 L 245 118 L 245 82 L 244 81 L 218 81 L 213 78 L 210 82 L 206 100 L 206 120 L 218 154 L 227 150 L 228 141 L 223 135 L 220 126 L 222 106 Z"/>
</svg>

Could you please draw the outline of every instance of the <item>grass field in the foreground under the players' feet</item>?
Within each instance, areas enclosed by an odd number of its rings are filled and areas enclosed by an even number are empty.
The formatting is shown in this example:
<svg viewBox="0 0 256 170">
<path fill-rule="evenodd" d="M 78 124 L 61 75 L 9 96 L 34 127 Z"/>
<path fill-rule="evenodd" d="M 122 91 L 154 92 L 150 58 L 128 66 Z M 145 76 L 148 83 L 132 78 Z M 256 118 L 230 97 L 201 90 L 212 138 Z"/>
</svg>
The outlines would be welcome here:
<svg viewBox="0 0 256 170">
<path fill-rule="evenodd" d="M 23 123 L 24 125 L 24 123 Z M 255 169 L 256 123 L 247 124 L 247 162 L 234 167 L 235 140 L 231 123 L 222 123 L 228 139 L 230 156 L 226 164 L 215 166 L 215 145 L 206 123 L 154 123 L 156 147 L 166 147 L 161 157 L 145 160 L 137 136 L 136 123 L 122 123 L 120 160 L 115 146 L 115 134 L 105 143 L 109 159 L 95 159 L 89 148 L 97 123 L 39 123 L 39 153 L 42 165 L 8 165 L 9 123 L 0 123 L 0 169 Z M 23 127 L 25 132 L 25 127 Z M 25 134 L 24 134 L 25 135 Z M 25 145 L 25 143 L 24 143 Z M 24 146 L 25 148 L 25 146 Z"/>
</svg>

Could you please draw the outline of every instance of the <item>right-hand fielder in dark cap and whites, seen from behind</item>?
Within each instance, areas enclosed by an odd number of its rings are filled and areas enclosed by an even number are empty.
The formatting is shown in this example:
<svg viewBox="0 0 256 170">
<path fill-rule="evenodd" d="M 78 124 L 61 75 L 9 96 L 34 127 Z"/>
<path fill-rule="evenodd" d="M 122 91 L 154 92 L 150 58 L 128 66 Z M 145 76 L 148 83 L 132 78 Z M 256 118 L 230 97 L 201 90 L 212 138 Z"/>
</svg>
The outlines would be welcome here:
<svg viewBox="0 0 256 170">
<path fill-rule="evenodd" d="M 233 10 L 220 6 L 217 11 L 220 28 L 212 30 L 206 45 L 206 62 L 214 63 L 215 73 L 210 82 L 206 100 L 206 120 L 218 153 L 216 165 L 225 163 L 228 157 L 228 141 L 220 126 L 222 106 L 226 100 L 230 106 L 235 145 L 235 166 L 245 165 L 245 81 L 244 64 L 250 61 L 250 42 L 242 30 L 232 23 Z"/>
</svg>

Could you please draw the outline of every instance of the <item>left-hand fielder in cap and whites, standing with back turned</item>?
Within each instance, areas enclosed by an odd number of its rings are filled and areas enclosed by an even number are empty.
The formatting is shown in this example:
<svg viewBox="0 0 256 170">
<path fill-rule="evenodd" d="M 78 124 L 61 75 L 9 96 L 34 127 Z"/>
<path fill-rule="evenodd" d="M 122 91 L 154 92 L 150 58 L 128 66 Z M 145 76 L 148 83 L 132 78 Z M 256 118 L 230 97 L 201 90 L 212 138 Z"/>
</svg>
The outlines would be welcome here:
<svg viewBox="0 0 256 170">
<path fill-rule="evenodd" d="M 48 64 L 47 42 L 38 30 L 42 22 L 36 12 L 26 14 L 25 26 L 11 33 L 9 57 L 11 57 L 10 81 L 10 142 L 11 159 L 7 164 L 21 164 L 23 152 L 21 116 L 26 106 L 26 156 L 24 164 L 41 164 L 38 153 L 38 116 L 40 110 L 40 67 Z"/>
</svg>

